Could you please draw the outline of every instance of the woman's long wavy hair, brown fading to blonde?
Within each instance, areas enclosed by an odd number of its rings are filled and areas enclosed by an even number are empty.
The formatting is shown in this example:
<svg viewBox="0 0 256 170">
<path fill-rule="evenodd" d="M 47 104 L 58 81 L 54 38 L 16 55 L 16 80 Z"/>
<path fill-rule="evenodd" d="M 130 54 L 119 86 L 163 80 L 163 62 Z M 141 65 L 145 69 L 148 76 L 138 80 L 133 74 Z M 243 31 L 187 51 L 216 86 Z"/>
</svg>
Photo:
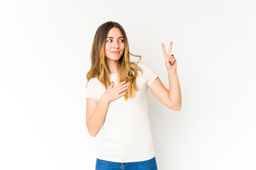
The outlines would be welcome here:
<svg viewBox="0 0 256 170">
<path fill-rule="evenodd" d="M 105 60 L 105 44 L 106 38 L 108 35 L 108 31 L 111 28 L 119 28 L 124 37 L 124 54 L 118 61 L 118 82 L 128 81 L 128 94 L 124 95 L 124 99 L 132 98 L 135 96 L 135 92 L 139 90 L 136 85 L 136 78 L 138 76 L 138 71 L 141 72 L 141 68 L 137 65 L 139 63 L 141 56 L 133 55 L 129 52 L 129 45 L 126 33 L 124 28 L 118 24 L 117 22 L 106 22 L 99 26 L 97 29 L 91 51 L 91 68 L 89 72 L 86 74 L 87 81 L 89 82 L 91 78 L 97 77 L 102 85 L 107 89 L 111 83 L 109 79 L 108 73 L 108 65 Z M 137 63 L 130 62 L 130 54 L 134 57 L 139 57 L 139 61 Z"/>
</svg>

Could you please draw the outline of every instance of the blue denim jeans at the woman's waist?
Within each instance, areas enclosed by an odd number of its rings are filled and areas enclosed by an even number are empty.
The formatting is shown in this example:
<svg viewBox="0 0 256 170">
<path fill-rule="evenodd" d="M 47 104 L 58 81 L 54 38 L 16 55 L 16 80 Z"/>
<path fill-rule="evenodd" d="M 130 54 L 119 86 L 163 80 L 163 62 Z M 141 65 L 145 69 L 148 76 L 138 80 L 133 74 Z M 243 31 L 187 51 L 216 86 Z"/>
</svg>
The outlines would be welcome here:
<svg viewBox="0 0 256 170">
<path fill-rule="evenodd" d="M 95 170 L 157 170 L 155 157 L 148 161 L 118 163 L 97 159 Z"/>
</svg>

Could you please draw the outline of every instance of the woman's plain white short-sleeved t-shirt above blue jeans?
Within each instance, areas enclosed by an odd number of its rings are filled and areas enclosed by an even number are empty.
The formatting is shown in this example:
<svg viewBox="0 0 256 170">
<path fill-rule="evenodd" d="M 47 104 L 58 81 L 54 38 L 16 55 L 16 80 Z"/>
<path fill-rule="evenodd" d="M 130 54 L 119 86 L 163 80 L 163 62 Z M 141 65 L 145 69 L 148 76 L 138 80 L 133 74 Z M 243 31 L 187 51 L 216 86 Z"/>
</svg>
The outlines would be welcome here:
<svg viewBox="0 0 256 170">
<path fill-rule="evenodd" d="M 118 98 L 109 103 L 102 126 L 97 158 L 112 162 L 146 161 L 155 157 L 152 133 L 148 119 L 148 87 L 157 74 L 145 63 L 138 63 L 139 72 L 136 84 L 139 91 L 134 98 Z M 110 82 L 117 85 L 117 75 L 110 74 Z M 106 91 L 98 78 L 92 78 L 86 88 L 86 98 L 99 98 Z"/>
</svg>

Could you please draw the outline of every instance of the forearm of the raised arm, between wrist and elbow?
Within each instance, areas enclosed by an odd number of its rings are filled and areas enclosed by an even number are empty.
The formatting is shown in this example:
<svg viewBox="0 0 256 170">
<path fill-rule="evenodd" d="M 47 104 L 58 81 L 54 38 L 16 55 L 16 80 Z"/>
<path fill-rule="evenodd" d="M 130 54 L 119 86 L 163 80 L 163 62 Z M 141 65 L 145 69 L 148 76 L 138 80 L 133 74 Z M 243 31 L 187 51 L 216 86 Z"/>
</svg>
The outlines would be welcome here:
<svg viewBox="0 0 256 170">
<path fill-rule="evenodd" d="M 168 70 L 169 98 L 173 110 L 181 109 L 181 90 L 177 70 Z"/>
</svg>

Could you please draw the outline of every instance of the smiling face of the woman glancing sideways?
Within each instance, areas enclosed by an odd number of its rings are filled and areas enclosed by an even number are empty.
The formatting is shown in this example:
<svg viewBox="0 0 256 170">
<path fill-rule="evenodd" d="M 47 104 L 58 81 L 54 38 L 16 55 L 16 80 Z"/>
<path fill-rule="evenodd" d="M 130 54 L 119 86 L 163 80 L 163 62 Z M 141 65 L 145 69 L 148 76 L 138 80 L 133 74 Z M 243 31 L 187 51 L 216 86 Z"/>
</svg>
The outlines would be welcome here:
<svg viewBox="0 0 256 170">
<path fill-rule="evenodd" d="M 108 31 L 105 45 L 106 62 L 118 62 L 124 54 L 124 37 L 119 28 Z"/>
</svg>

